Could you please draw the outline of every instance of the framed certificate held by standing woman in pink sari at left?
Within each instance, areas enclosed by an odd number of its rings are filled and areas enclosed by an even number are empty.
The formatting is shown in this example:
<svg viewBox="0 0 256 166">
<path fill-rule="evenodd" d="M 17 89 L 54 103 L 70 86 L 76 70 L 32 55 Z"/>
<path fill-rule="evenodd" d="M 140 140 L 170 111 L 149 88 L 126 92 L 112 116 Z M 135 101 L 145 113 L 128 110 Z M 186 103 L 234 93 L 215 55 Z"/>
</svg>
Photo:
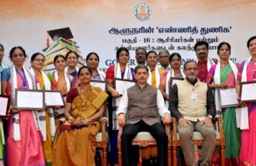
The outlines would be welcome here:
<svg viewBox="0 0 256 166">
<path fill-rule="evenodd" d="M 18 109 L 44 110 L 44 91 L 15 89 L 15 107 Z"/>
</svg>

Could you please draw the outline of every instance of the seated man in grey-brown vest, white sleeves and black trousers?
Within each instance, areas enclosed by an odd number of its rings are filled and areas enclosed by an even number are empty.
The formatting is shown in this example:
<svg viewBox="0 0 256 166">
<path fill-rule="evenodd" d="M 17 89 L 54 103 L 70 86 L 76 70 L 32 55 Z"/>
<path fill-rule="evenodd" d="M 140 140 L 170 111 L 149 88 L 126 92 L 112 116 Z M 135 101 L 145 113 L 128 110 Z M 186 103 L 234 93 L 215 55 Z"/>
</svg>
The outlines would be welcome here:
<svg viewBox="0 0 256 166">
<path fill-rule="evenodd" d="M 167 165 L 167 136 L 161 126 L 170 123 L 170 111 L 165 107 L 163 95 L 158 89 L 147 84 L 149 77 L 147 66 L 139 64 L 135 68 L 137 83 L 122 95 L 118 111 L 118 124 L 124 127 L 121 136 L 122 164 L 131 165 L 131 142 L 138 132 L 148 131 L 158 145 L 158 165 Z"/>
</svg>

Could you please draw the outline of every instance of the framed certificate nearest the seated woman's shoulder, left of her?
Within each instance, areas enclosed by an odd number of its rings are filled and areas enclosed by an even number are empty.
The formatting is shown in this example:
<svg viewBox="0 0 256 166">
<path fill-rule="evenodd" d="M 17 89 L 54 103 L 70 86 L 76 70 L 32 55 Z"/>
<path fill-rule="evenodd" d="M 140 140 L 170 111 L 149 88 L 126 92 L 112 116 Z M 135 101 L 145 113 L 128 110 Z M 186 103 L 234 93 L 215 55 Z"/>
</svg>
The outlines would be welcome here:
<svg viewBox="0 0 256 166">
<path fill-rule="evenodd" d="M 60 91 L 44 91 L 45 103 L 47 107 L 65 107 L 64 98 Z"/>
</svg>

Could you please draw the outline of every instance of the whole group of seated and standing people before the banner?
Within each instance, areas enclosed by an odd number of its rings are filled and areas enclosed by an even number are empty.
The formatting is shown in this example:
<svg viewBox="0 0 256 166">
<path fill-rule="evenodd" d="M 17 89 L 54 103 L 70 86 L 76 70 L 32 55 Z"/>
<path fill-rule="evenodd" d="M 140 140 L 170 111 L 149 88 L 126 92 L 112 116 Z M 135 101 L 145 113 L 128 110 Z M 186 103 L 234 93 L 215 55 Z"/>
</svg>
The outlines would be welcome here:
<svg viewBox="0 0 256 166">
<path fill-rule="evenodd" d="M 42 70 L 45 61 L 42 53 L 32 55 L 31 67 L 24 67 L 27 55 L 21 46 L 10 50 L 12 66 L 8 68 L 2 62 L 4 49 L 0 44 L 1 94 L 10 96 L 11 100 L 8 116 L 0 121 L 0 163 L 95 165 L 95 136 L 100 131 L 100 118 L 107 114 L 111 165 L 118 164 L 119 126 L 124 127 L 122 165 L 136 162 L 132 158 L 131 141 L 139 131 L 152 134 L 158 143 L 158 165 L 167 165 L 167 136 L 160 117 L 164 124 L 169 124 L 171 116 L 178 121 L 186 165 L 211 165 L 215 116 L 223 117 L 226 165 L 255 165 L 256 102 L 239 101 L 241 111 L 247 111 L 248 118 L 237 119 L 240 117 L 236 116 L 236 107 L 219 106 L 217 91 L 235 86 L 239 96 L 241 82 L 256 80 L 256 36 L 248 39 L 247 47 L 250 57 L 238 64 L 230 61 L 228 42 L 219 44 L 217 61 L 208 56 L 208 43 L 199 41 L 194 46 L 196 60 L 185 62 L 183 67 L 179 53 L 147 52 L 139 47 L 135 68 L 128 64 L 129 50 L 121 47 L 116 52 L 117 63 L 109 66 L 106 73 L 98 69 L 97 53 L 89 53 L 86 66 L 77 68 L 78 55 L 70 51 L 65 57 L 55 56 L 55 71 L 47 74 Z M 172 85 L 172 77 L 183 80 Z M 120 95 L 114 86 L 115 78 L 136 84 Z M 91 80 L 104 81 L 107 88 L 92 86 Z M 65 108 L 19 109 L 15 107 L 15 89 L 61 91 Z M 55 125 L 56 120 L 61 122 L 60 126 Z M 239 122 L 248 125 L 241 127 Z M 193 131 L 199 131 L 204 138 L 199 163 L 194 158 Z"/>
</svg>

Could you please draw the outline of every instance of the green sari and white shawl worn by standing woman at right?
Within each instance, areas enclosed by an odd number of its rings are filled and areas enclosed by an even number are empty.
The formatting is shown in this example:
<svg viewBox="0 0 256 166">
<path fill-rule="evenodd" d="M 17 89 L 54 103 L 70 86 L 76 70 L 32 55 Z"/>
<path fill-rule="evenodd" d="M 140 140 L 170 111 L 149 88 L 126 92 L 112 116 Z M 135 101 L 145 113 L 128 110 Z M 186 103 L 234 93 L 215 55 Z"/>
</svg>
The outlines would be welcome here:
<svg viewBox="0 0 256 166">
<path fill-rule="evenodd" d="M 235 65 L 233 62 L 230 62 L 230 64 L 223 66 L 223 68 L 220 68 L 218 64 L 217 66 L 212 66 L 206 78 L 206 82 L 211 84 L 213 81 L 214 84 L 226 83 L 228 87 L 235 86 L 237 70 L 233 71 L 232 68 L 236 68 L 239 64 Z M 217 69 L 218 67 L 219 69 Z M 217 90 L 214 91 L 214 93 L 217 93 Z M 215 100 L 219 99 L 215 98 Z M 216 101 L 216 103 L 219 103 L 219 101 Z M 216 108 L 219 108 L 219 106 Z M 217 116 L 223 116 L 223 130 L 226 137 L 226 164 L 230 165 L 232 163 L 233 165 L 239 165 L 241 133 L 240 129 L 237 128 L 235 107 L 217 110 Z"/>
</svg>

